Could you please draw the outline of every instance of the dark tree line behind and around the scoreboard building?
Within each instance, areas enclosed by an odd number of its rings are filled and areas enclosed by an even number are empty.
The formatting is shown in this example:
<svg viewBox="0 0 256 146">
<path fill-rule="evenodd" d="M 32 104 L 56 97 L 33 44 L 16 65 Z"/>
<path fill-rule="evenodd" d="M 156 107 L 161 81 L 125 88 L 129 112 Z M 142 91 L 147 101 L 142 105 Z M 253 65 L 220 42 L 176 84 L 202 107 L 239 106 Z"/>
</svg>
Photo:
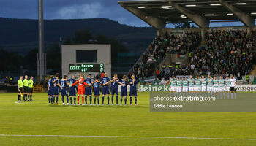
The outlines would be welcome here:
<svg viewBox="0 0 256 146">
<path fill-rule="evenodd" d="M 61 72 L 61 44 L 110 44 L 112 64 L 116 64 L 117 53 L 127 51 L 127 47 L 118 42 L 118 40 L 109 38 L 104 34 L 94 36 L 89 30 L 75 31 L 72 37 L 66 37 L 60 40 L 60 42 L 51 42 L 45 45 L 47 69 L 52 69 L 53 72 Z M 37 70 L 37 52 L 38 49 L 34 48 L 26 55 L 20 55 L 17 52 L 10 52 L 0 48 L 0 76 L 2 71 L 17 72 L 20 69 Z"/>
</svg>

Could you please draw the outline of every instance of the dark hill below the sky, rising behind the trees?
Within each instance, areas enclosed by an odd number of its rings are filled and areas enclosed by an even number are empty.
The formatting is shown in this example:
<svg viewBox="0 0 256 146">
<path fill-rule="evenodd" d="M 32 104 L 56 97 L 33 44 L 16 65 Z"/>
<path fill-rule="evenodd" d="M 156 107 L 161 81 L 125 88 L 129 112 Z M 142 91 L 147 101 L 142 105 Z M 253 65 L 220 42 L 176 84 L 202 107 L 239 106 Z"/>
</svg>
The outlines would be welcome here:
<svg viewBox="0 0 256 146">
<path fill-rule="evenodd" d="M 45 44 L 73 37 L 75 31 L 88 29 L 92 34 L 105 34 L 124 44 L 129 52 L 141 53 L 155 37 L 154 28 L 132 27 L 106 18 L 45 20 Z M 26 54 L 37 47 L 37 20 L 0 18 L 0 48 Z"/>
</svg>

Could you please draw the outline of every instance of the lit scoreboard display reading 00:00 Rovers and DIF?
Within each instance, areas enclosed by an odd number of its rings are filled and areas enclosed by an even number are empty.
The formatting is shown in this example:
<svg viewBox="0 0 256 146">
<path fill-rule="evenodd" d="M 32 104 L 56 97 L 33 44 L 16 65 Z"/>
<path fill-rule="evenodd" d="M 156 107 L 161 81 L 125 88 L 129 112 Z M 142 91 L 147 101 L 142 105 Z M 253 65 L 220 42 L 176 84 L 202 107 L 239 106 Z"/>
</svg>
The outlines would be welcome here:
<svg viewBox="0 0 256 146">
<path fill-rule="evenodd" d="M 104 64 L 69 64 L 69 72 L 104 72 Z"/>
</svg>

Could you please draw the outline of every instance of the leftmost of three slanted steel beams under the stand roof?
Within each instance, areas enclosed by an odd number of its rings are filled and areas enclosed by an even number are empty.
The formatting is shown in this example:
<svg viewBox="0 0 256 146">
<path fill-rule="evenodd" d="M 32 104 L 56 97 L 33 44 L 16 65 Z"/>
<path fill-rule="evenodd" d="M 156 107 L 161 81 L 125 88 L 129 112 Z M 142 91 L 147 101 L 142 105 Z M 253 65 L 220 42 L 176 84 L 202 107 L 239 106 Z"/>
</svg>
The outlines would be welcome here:
<svg viewBox="0 0 256 146">
<path fill-rule="evenodd" d="M 166 23 L 164 20 L 161 20 L 159 18 L 155 18 L 153 16 L 146 15 L 145 12 L 140 11 L 139 9 L 135 9 L 134 7 L 126 6 L 122 3 L 119 3 L 121 7 L 124 7 L 124 9 L 127 9 L 129 12 L 132 12 L 132 14 L 136 15 L 138 18 L 144 20 L 148 25 L 156 28 L 157 30 L 160 30 L 162 28 L 165 28 Z"/>
</svg>

